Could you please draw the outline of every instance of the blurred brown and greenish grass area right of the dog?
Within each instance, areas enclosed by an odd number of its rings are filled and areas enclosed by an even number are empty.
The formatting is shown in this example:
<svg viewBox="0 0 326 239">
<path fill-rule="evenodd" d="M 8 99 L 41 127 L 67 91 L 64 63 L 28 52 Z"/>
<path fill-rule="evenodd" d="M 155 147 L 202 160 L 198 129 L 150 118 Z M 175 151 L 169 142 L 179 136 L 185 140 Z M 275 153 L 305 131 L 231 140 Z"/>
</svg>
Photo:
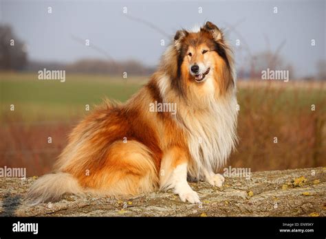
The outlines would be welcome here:
<svg viewBox="0 0 326 239">
<path fill-rule="evenodd" d="M 241 82 L 240 89 L 240 140 L 229 161 L 232 167 L 257 171 L 326 165 L 325 83 Z"/>
</svg>

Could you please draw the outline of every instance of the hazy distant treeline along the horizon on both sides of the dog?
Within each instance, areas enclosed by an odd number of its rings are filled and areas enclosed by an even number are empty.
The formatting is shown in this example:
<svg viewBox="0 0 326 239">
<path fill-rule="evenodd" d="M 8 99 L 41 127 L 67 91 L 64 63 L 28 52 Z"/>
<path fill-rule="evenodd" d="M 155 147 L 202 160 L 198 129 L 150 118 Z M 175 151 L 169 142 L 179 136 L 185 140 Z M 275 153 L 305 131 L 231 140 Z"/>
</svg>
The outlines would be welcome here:
<svg viewBox="0 0 326 239">
<path fill-rule="evenodd" d="M 149 76 L 155 67 L 142 64 L 141 60 L 101 60 L 85 58 L 72 63 L 41 62 L 28 58 L 28 45 L 14 34 L 9 25 L 0 25 L 0 71 L 40 71 L 65 70 L 67 73 L 105 73 L 122 75 Z M 241 65 L 237 65 L 237 76 L 242 79 L 259 79 L 266 70 L 282 70 L 296 78 L 296 69 L 282 56 L 275 52 L 263 51 L 250 56 Z M 326 80 L 326 60 L 320 59 L 316 64 L 316 73 L 305 76 L 304 80 Z"/>
</svg>

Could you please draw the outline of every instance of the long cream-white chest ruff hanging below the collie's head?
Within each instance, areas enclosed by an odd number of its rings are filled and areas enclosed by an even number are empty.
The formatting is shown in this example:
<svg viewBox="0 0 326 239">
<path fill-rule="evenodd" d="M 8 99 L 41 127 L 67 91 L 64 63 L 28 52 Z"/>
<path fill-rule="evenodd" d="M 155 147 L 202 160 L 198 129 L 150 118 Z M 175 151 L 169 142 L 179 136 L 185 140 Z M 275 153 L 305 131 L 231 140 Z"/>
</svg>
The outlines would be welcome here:
<svg viewBox="0 0 326 239">
<path fill-rule="evenodd" d="M 237 100 L 235 96 L 187 121 L 188 149 L 193 163 L 191 177 L 202 177 L 204 169 L 216 172 L 225 165 L 237 141 Z"/>
</svg>

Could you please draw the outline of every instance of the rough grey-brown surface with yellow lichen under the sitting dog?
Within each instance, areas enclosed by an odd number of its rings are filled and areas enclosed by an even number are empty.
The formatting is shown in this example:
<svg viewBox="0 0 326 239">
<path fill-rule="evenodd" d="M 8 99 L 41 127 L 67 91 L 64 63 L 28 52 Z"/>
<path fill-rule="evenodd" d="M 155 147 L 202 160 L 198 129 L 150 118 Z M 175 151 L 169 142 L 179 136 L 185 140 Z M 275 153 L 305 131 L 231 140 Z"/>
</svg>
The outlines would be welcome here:
<svg viewBox="0 0 326 239">
<path fill-rule="evenodd" d="M 65 196 L 56 203 L 25 205 L 34 178 L 0 178 L 1 216 L 325 216 L 326 168 L 253 172 L 226 177 L 220 188 L 191 183 L 202 203 L 182 203 L 173 192 L 130 198 Z"/>
</svg>

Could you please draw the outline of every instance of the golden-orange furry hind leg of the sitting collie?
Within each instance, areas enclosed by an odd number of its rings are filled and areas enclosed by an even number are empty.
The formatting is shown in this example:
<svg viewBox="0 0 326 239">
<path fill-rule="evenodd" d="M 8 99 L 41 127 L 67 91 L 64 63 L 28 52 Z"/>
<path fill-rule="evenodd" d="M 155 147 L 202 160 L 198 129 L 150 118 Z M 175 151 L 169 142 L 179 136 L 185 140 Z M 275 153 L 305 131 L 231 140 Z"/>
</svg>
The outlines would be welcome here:
<svg viewBox="0 0 326 239">
<path fill-rule="evenodd" d="M 138 141 L 114 142 L 105 163 L 88 176 L 79 177 L 80 185 L 105 195 L 135 195 L 152 192 L 158 174 L 149 148 Z"/>
</svg>

